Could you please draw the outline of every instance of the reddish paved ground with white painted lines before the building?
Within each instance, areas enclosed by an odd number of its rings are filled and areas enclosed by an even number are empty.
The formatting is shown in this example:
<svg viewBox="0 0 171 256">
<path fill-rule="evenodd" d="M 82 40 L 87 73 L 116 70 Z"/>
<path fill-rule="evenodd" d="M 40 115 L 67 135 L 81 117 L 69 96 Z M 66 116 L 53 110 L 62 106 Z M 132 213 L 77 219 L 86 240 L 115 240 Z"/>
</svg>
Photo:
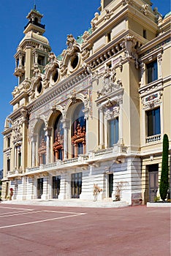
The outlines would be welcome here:
<svg viewBox="0 0 171 256">
<path fill-rule="evenodd" d="M 1 256 L 170 256 L 170 208 L 64 208 L 1 203 L 0 241 Z"/>
</svg>

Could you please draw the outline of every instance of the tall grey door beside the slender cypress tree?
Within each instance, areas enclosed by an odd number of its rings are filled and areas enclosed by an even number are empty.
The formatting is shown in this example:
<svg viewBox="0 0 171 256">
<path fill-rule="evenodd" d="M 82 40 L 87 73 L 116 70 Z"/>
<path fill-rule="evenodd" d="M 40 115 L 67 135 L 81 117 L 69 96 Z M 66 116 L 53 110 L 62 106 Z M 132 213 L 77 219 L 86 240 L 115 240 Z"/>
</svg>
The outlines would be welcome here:
<svg viewBox="0 0 171 256">
<path fill-rule="evenodd" d="M 159 165 L 149 165 L 149 200 L 150 202 L 154 201 L 154 198 L 157 195 L 158 190 L 158 170 Z"/>
</svg>

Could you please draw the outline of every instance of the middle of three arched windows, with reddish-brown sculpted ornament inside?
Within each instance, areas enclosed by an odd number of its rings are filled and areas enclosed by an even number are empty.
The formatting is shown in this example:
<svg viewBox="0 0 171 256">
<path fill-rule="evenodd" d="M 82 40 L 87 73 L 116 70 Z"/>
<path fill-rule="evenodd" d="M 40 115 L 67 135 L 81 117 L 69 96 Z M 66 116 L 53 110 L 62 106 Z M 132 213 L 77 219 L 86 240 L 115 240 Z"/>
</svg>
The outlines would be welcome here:
<svg viewBox="0 0 171 256">
<path fill-rule="evenodd" d="M 61 122 L 62 115 L 58 115 L 56 118 L 56 122 L 54 124 L 54 142 L 53 142 L 53 152 L 54 152 L 54 159 L 63 159 L 63 152 L 64 152 L 64 129 L 63 124 Z"/>
</svg>

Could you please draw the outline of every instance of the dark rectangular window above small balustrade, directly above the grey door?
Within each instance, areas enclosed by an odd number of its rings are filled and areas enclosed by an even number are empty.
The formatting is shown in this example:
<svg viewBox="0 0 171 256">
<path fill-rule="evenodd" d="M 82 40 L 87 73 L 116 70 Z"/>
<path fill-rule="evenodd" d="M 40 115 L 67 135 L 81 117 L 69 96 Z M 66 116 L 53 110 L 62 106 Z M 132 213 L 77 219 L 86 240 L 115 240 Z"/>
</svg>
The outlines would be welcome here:
<svg viewBox="0 0 171 256">
<path fill-rule="evenodd" d="M 159 135 L 161 133 L 160 127 L 160 108 L 148 110 L 147 116 L 147 135 Z"/>
</svg>

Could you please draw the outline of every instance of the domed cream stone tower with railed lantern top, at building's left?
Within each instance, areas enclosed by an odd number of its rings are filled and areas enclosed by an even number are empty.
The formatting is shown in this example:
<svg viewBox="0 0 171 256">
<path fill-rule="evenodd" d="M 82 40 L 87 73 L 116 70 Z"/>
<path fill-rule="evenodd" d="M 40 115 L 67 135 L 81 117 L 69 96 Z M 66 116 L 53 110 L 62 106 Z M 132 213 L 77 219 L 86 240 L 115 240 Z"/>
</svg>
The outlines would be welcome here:
<svg viewBox="0 0 171 256">
<path fill-rule="evenodd" d="M 34 66 L 37 65 L 42 70 L 47 64 L 47 55 L 51 48 L 46 37 L 45 25 L 42 25 L 41 19 L 43 15 L 34 9 L 28 13 L 28 23 L 24 27 L 23 33 L 25 37 L 18 45 L 17 53 L 15 54 L 15 72 L 18 77 L 18 85 L 26 78 L 32 77 Z"/>
</svg>

